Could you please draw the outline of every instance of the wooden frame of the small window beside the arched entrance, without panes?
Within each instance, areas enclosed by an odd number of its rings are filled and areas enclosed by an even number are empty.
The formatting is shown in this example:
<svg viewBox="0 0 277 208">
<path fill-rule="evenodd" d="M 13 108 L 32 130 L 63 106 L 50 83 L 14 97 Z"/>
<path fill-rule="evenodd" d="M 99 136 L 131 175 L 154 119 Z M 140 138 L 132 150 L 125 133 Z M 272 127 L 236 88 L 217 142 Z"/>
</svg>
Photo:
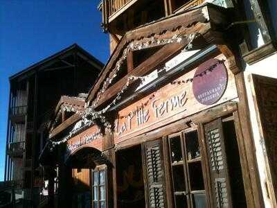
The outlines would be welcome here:
<svg viewBox="0 0 277 208">
<path fill-rule="evenodd" d="M 100 184 L 100 171 L 104 171 L 105 173 L 105 184 Z M 94 185 L 93 184 L 93 173 L 98 173 L 98 184 Z M 94 207 L 94 202 L 98 202 L 98 208 L 100 208 L 100 202 L 104 202 L 105 201 L 105 205 L 106 207 L 108 207 L 108 194 L 107 194 L 107 166 L 106 165 L 101 165 L 101 166 L 97 166 L 96 168 L 94 168 L 93 170 L 91 170 L 91 207 Z M 100 200 L 100 187 L 104 185 L 105 186 L 105 200 Z M 97 187 L 97 191 L 98 191 L 98 199 L 94 200 L 94 187 Z"/>
</svg>

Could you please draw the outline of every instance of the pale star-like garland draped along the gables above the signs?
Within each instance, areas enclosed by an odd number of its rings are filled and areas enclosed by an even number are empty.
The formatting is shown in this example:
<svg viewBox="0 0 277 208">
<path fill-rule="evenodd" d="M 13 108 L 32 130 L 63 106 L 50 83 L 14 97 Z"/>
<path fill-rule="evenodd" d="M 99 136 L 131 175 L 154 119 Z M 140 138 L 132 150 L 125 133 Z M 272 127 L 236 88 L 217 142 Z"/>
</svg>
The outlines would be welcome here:
<svg viewBox="0 0 277 208">
<path fill-rule="evenodd" d="M 66 137 L 64 137 L 60 141 L 51 141 L 50 149 L 53 150 L 53 148 L 55 146 L 65 143 L 71 137 L 73 137 L 74 135 L 77 135 L 80 131 L 84 130 L 85 128 L 89 128 L 89 126 L 91 126 L 93 124 L 96 124 L 97 120 L 99 120 L 102 123 L 104 128 L 111 130 L 111 123 L 109 123 L 109 121 L 107 121 L 106 116 L 105 116 L 105 113 L 107 112 L 107 110 L 109 110 L 113 105 L 116 105 L 116 103 L 118 103 L 118 101 L 120 101 L 124 92 L 129 88 L 129 86 L 132 83 L 134 83 L 135 81 L 143 82 L 145 80 L 145 76 L 129 76 L 129 78 L 127 78 L 127 81 L 126 81 L 125 85 L 122 87 L 122 89 L 120 90 L 120 92 L 118 92 L 116 94 L 114 100 L 111 101 L 111 103 L 109 103 L 109 105 L 102 108 L 102 110 L 98 110 L 98 111 L 95 110 L 96 106 L 98 105 L 98 102 L 100 101 L 100 98 L 102 97 L 102 95 L 104 94 L 106 89 L 109 87 L 109 85 L 111 85 L 111 83 L 114 81 L 114 79 L 118 76 L 118 73 L 120 72 L 120 69 L 123 66 L 123 62 L 127 58 L 127 53 L 130 50 L 132 50 L 132 51 L 142 50 L 142 49 L 152 46 L 153 44 L 155 46 L 158 46 L 158 45 L 170 44 L 173 42 L 187 41 L 188 44 L 186 44 L 186 47 L 182 50 L 182 52 L 188 51 L 188 50 L 192 49 L 193 40 L 195 40 L 195 38 L 198 37 L 199 35 L 200 35 L 199 33 L 193 33 L 190 35 L 174 35 L 172 38 L 164 39 L 164 40 L 159 40 L 155 37 L 152 37 L 152 38 L 150 38 L 150 40 L 145 41 L 145 42 L 129 43 L 127 45 L 127 47 L 123 50 L 123 54 L 121 55 L 121 57 L 116 62 L 116 67 L 111 71 L 111 73 L 109 73 L 110 76 L 107 77 L 105 79 L 105 81 L 103 82 L 102 88 L 100 89 L 97 98 L 93 101 L 91 106 L 84 108 L 84 110 L 78 110 L 73 106 L 62 107 L 60 112 L 62 112 L 62 110 L 65 110 L 65 111 L 69 111 L 69 112 L 75 112 L 76 114 L 80 114 L 80 116 L 82 117 L 82 120 L 80 121 L 81 124 L 78 128 L 73 128 L 69 132 L 69 134 L 66 135 Z M 213 69 L 215 69 L 217 67 L 217 64 L 221 64 L 221 63 L 224 63 L 224 60 L 219 60 L 217 63 L 213 64 L 208 69 L 202 71 L 202 73 L 197 74 L 194 78 L 206 75 L 207 73 L 213 71 Z M 166 71 L 166 70 L 167 70 L 167 68 L 163 67 L 162 69 L 159 69 L 158 71 L 161 72 L 161 71 Z M 188 78 L 187 80 L 173 81 L 171 84 L 181 84 L 181 83 L 191 83 L 191 82 L 193 82 L 193 78 Z M 57 122 L 57 121 L 54 121 L 54 122 Z"/>
</svg>

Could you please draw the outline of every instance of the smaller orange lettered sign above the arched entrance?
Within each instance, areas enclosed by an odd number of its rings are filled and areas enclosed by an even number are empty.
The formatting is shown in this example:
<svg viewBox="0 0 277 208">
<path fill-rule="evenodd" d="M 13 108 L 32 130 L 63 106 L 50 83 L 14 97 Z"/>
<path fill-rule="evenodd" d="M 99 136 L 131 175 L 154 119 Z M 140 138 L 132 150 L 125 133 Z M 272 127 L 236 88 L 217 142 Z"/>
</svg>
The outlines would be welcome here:
<svg viewBox="0 0 277 208">
<path fill-rule="evenodd" d="M 100 129 L 93 125 L 66 142 L 66 155 L 72 155 L 84 146 L 102 150 L 102 139 Z"/>
</svg>

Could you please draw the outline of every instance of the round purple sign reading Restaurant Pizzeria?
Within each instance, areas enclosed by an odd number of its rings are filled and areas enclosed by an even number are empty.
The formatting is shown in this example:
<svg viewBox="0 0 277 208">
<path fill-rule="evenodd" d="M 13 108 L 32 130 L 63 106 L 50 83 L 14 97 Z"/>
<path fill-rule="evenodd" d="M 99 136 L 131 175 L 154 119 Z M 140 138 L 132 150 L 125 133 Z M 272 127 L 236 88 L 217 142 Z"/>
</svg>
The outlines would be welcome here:
<svg viewBox="0 0 277 208">
<path fill-rule="evenodd" d="M 227 87 L 224 63 L 212 58 L 199 65 L 193 78 L 193 94 L 199 103 L 212 105 L 220 100 Z"/>
</svg>

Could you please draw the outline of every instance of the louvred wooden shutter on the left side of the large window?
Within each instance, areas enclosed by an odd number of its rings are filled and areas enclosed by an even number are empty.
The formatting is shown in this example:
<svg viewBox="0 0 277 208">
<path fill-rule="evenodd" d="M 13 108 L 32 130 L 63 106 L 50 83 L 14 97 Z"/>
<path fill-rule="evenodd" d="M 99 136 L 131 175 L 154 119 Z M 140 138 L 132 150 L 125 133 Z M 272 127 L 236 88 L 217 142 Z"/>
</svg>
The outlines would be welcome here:
<svg viewBox="0 0 277 208">
<path fill-rule="evenodd" d="M 146 204 L 150 208 L 166 207 L 163 151 L 161 139 L 143 144 Z"/>
</svg>

